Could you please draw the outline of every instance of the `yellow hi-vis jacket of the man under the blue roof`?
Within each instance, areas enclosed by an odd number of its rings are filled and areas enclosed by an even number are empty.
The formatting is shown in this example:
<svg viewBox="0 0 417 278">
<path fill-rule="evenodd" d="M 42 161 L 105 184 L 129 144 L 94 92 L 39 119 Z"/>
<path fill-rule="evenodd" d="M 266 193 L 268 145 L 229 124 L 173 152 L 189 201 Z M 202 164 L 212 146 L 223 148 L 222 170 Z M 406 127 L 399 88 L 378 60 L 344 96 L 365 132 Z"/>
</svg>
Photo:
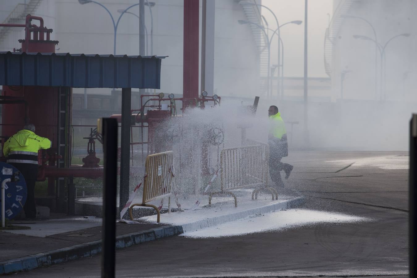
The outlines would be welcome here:
<svg viewBox="0 0 417 278">
<path fill-rule="evenodd" d="M 23 129 L 4 143 L 3 154 L 8 156 L 8 163 L 38 164 L 38 151 L 51 146 L 52 142 L 48 138 Z"/>
</svg>

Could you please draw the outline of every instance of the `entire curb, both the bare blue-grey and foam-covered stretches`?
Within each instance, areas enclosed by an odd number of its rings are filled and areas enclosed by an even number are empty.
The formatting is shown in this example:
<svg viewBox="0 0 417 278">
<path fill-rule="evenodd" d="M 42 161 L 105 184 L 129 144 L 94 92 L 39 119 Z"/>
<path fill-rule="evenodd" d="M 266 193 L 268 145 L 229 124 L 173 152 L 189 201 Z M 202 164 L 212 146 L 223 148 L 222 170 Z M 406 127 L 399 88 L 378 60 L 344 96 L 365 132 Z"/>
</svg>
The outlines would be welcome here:
<svg viewBox="0 0 417 278">
<path fill-rule="evenodd" d="M 271 210 L 281 208 L 292 208 L 300 205 L 305 200 L 305 197 L 296 197 L 286 200 L 281 203 L 266 205 L 261 208 L 244 210 L 239 213 L 233 213 L 234 220 L 244 218 L 250 214 L 268 213 Z M 182 225 L 165 225 L 141 232 L 128 233 L 126 235 L 119 235 L 116 237 L 116 249 L 129 247 L 135 244 L 148 242 L 160 238 L 166 238 L 173 235 L 179 235 L 186 231 L 207 228 L 213 225 L 229 222 L 230 215 L 223 215 L 220 217 L 206 218 L 191 223 Z M 101 240 L 95 240 L 88 243 L 81 243 L 70 247 L 64 247 L 57 250 L 51 250 L 44 253 L 28 255 L 22 258 L 6 260 L 0 262 L 0 275 L 10 274 L 18 271 L 32 270 L 47 265 L 54 265 L 58 263 L 65 263 L 70 260 L 80 258 L 87 258 L 101 253 Z"/>
</svg>

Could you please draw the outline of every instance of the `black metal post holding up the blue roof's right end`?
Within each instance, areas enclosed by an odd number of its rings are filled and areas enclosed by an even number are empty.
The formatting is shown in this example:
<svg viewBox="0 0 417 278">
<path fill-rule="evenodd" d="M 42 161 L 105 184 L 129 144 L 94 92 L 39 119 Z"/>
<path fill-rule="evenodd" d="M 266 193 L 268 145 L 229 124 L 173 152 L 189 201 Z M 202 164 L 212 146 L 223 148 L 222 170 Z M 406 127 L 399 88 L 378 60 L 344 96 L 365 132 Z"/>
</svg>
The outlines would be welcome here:
<svg viewBox="0 0 417 278">
<path fill-rule="evenodd" d="M 129 199 L 131 97 L 132 89 L 123 88 L 119 211 L 123 209 Z"/>
</svg>

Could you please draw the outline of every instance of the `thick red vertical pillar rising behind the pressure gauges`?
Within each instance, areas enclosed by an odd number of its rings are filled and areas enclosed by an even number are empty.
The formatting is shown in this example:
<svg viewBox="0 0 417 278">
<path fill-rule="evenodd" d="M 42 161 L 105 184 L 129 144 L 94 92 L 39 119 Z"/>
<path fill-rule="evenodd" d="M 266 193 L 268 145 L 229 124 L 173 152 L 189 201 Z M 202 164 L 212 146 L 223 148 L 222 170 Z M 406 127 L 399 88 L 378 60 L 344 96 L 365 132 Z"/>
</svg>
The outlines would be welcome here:
<svg viewBox="0 0 417 278">
<path fill-rule="evenodd" d="M 184 0 L 183 97 L 198 98 L 198 13 L 199 0 Z M 184 109 L 195 105 L 185 100 Z"/>
</svg>

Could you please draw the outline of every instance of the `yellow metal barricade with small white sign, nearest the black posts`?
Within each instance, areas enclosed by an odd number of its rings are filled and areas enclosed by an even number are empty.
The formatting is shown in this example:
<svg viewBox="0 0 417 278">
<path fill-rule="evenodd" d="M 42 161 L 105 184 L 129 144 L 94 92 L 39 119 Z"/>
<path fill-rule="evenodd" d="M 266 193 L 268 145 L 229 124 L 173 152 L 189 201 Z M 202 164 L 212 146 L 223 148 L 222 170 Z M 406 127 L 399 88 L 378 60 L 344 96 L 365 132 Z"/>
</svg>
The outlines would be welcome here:
<svg viewBox="0 0 417 278">
<path fill-rule="evenodd" d="M 152 207 L 158 213 L 158 223 L 161 212 L 156 205 L 148 202 L 156 198 L 168 197 L 168 212 L 171 212 L 171 189 L 173 179 L 173 152 L 155 153 L 146 157 L 146 175 L 143 179 L 142 203 L 132 204 L 129 207 L 129 215 L 133 220 L 132 209 L 134 206 Z"/>
</svg>

